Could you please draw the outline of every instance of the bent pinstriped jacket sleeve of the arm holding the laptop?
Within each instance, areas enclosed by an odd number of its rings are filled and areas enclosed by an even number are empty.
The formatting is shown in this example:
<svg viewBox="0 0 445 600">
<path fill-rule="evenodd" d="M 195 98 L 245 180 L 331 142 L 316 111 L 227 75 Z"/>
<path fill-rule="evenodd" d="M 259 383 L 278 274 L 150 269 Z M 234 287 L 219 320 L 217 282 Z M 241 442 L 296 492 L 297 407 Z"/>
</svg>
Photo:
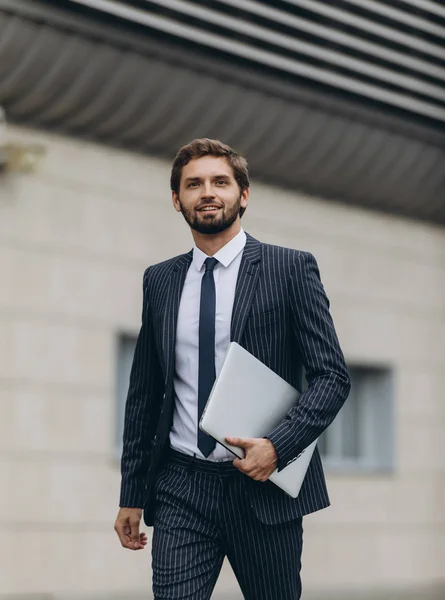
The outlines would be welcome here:
<svg viewBox="0 0 445 600">
<path fill-rule="evenodd" d="M 296 255 L 289 296 L 292 335 L 306 370 L 308 387 L 284 421 L 267 436 L 277 451 L 279 471 L 328 427 L 350 389 L 329 300 L 312 254 Z"/>
</svg>

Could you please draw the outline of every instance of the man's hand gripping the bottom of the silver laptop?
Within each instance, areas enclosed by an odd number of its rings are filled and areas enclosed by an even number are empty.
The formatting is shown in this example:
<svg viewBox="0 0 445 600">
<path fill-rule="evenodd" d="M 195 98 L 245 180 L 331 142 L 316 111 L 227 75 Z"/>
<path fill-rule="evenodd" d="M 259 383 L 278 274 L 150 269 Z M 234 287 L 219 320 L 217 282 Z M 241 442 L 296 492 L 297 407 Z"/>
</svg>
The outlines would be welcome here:
<svg viewBox="0 0 445 600">
<path fill-rule="evenodd" d="M 278 455 L 270 440 L 227 437 L 226 441 L 244 450 L 244 458 L 235 458 L 233 465 L 255 481 L 267 481 L 277 468 Z"/>
</svg>

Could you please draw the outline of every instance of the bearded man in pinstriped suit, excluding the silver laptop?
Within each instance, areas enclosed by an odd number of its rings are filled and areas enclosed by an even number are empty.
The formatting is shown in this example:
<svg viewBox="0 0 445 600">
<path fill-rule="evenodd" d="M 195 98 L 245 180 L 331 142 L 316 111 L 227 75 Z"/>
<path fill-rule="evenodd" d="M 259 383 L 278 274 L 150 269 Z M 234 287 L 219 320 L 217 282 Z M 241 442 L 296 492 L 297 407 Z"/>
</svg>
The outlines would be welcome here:
<svg viewBox="0 0 445 600">
<path fill-rule="evenodd" d="M 244 233 L 247 163 L 230 147 L 201 139 L 181 148 L 171 189 L 195 246 L 144 274 L 115 529 L 125 548 L 140 550 L 142 509 L 154 526 L 156 600 L 210 598 L 224 556 L 245 598 L 298 599 L 302 517 L 329 505 L 318 451 L 298 498 L 267 480 L 348 395 L 329 302 L 311 254 Z M 308 382 L 266 438 L 227 438 L 244 449 L 235 460 L 198 428 L 230 341 L 300 391 L 303 367 Z"/>
</svg>

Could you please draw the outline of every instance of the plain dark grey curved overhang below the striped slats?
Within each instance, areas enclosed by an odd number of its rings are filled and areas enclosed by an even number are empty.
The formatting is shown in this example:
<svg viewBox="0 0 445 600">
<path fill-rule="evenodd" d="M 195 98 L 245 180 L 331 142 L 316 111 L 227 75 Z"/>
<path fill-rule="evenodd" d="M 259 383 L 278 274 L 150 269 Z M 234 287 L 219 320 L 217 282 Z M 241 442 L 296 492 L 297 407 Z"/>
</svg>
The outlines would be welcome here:
<svg viewBox="0 0 445 600">
<path fill-rule="evenodd" d="M 126 25 L 0 0 L 0 103 L 9 119 L 168 157 L 193 137 L 220 137 L 265 181 L 445 224 L 445 119 Z"/>
</svg>

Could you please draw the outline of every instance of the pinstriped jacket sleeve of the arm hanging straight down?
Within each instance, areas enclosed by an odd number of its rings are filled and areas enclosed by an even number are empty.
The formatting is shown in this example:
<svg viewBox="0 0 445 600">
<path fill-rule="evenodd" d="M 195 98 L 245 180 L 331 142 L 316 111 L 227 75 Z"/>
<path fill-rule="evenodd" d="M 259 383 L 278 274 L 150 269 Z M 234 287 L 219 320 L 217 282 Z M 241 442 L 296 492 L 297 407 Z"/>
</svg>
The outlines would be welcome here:
<svg viewBox="0 0 445 600">
<path fill-rule="evenodd" d="M 149 306 L 149 271 L 144 273 L 142 325 L 136 342 L 125 405 L 121 494 L 119 506 L 142 508 L 151 440 L 156 427 L 156 380 L 160 366 Z"/>
</svg>

